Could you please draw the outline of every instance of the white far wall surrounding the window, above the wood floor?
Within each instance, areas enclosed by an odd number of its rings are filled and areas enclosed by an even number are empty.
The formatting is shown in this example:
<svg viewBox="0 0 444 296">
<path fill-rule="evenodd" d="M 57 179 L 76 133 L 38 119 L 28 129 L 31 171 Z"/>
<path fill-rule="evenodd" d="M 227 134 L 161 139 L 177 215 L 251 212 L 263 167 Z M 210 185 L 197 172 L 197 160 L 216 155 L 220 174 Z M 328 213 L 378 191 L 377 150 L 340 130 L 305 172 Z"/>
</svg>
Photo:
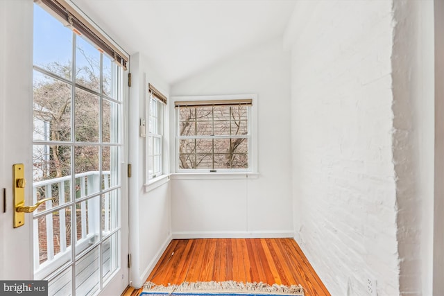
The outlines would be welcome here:
<svg viewBox="0 0 444 296">
<path fill-rule="evenodd" d="M 171 96 L 257 94 L 259 118 L 259 177 L 184 180 L 173 176 L 174 236 L 289 236 L 293 232 L 289 75 L 289 53 L 282 51 L 282 38 L 277 38 L 171 86 Z"/>
</svg>

